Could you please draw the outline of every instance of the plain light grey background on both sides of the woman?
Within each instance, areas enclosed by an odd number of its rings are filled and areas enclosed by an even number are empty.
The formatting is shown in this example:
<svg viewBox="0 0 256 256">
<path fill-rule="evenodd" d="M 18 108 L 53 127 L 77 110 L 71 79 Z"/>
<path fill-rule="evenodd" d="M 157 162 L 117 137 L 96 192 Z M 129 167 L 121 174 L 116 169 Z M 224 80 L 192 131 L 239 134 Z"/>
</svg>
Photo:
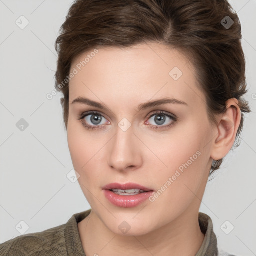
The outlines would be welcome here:
<svg viewBox="0 0 256 256">
<path fill-rule="evenodd" d="M 252 112 L 245 117 L 240 146 L 208 182 L 200 211 L 212 218 L 223 249 L 249 256 L 256 255 L 256 0 L 229 2 L 242 24 L 249 88 L 245 98 Z M 61 225 L 90 208 L 78 182 L 67 178 L 73 166 L 61 94 L 46 98 L 54 89 L 54 42 L 71 4 L 0 0 L 0 243 L 24 231 Z M 24 29 L 15 23 L 21 23 L 21 15 L 29 21 Z M 23 18 L 19 25 L 24 24 Z M 21 118 L 28 123 L 23 131 L 16 126 Z"/>
</svg>

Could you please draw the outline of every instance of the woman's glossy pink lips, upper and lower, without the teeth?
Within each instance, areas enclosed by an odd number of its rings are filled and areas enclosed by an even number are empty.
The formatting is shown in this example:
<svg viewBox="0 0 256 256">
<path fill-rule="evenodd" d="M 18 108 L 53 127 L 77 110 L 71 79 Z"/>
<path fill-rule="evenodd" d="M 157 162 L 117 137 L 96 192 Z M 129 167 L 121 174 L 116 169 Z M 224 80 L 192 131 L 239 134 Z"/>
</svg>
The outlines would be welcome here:
<svg viewBox="0 0 256 256">
<path fill-rule="evenodd" d="M 114 188 L 123 190 L 136 188 L 144 190 L 145 192 L 136 195 L 119 195 L 110 190 Z M 144 202 L 150 195 L 152 195 L 154 191 L 150 188 L 135 183 L 110 183 L 103 187 L 103 192 L 109 202 L 111 202 L 115 206 L 129 208 L 135 207 L 140 203 Z"/>
</svg>

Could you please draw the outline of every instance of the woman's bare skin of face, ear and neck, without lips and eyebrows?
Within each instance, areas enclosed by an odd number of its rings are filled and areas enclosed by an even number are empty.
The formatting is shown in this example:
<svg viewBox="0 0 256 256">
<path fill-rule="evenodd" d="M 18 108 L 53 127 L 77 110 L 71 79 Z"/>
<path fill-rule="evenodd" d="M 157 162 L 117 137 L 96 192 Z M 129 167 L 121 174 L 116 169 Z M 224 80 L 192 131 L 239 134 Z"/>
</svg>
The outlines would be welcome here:
<svg viewBox="0 0 256 256">
<path fill-rule="evenodd" d="M 76 57 L 70 70 L 87 54 Z M 169 75 L 174 67 L 183 72 L 176 81 Z M 198 211 L 210 166 L 232 147 L 241 113 L 237 100 L 229 99 L 226 112 L 216 116 L 218 125 L 214 126 L 194 72 L 177 49 L 143 43 L 125 49 L 99 49 L 70 80 L 68 146 L 80 175 L 78 182 L 92 209 L 78 223 L 86 255 L 192 256 L 199 250 L 204 234 Z M 103 103 L 107 109 L 72 103 L 77 97 Z M 187 105 L 135 110 L 141 103 L 163 97 Z M 165 122 L 159 124 L 154 119 L 157 114 L 150 117 L 157 110 L 178 119 L 165 116 Z M 103 115 L 99 124 L 90 121 L 91 115 L 83 118 L 88 125 L 100 128 L 88 130 L 78 120 L 88 111 Z M 127 131 L 118 127 L 123 118 L 131 124 Z M 153 129 L 170 123 L 171 127 Z M 157 191 L 197 151 L 200 156 L 153 202 L 124 208 L 104 196 L 102 187 L 112 182 L 134 182 Z M 123 221 L 131 227 L 125 234 L 118 228 Z"/>
</svg>

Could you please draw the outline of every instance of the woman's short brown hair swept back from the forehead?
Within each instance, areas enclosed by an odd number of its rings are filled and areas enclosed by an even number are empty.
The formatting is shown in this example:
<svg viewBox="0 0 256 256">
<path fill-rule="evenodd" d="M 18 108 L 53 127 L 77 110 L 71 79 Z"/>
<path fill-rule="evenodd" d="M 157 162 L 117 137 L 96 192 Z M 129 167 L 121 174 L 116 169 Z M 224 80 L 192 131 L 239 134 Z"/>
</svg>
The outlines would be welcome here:
<svg viewBox="0 0 256 256">
<path fill-rule="evenodd" d="M 177 47 L 189 56 L 212 123 L 216 124 L 214 114 L 225 111 L 226 100 L 238 100 L 241 122 L 233 145 L 237 147 L 243 113 L 250 112 L 248 102 L 241 98 L 247 90 L 240 40 L 240 21 L 227 0 L 75 0 L 55 42 L 55 88 L 64 95 L 61 104 L 65 128 L 68 75 L 75 57 L 95 48 L 154 41 Z M 211 173 L 222 160 L 213 161 Z"/>
</svg>

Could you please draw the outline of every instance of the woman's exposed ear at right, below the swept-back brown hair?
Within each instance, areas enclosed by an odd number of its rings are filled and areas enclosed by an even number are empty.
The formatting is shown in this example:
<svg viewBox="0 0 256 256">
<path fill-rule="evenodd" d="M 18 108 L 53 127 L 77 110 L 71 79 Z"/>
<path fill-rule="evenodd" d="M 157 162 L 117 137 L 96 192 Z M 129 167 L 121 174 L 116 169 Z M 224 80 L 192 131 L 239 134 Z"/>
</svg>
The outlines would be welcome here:
<svg viewBox="0 0 256 256">
<path fill-rule="evenodd" d="M 226 111 L 218 117 L 218 135 L 212 147 L 211 158 L 219 160 L 231 149 L 241 121 L 241 110 L 236 98 L 226 101 Z"/>
</svg>

